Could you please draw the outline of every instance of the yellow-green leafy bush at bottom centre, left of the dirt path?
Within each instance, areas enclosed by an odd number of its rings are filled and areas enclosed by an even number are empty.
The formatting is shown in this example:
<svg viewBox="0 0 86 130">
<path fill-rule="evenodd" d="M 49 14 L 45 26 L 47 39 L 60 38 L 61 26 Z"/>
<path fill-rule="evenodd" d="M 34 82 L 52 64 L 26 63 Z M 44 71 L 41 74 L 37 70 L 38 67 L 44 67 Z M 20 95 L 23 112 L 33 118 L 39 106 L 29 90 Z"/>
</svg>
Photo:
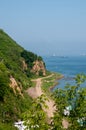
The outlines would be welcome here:
<svg viewBox="0 0 86 130">
<path fill-rule="evenodd" d="M 30 130 L 48 130 L 49 126 L 46 120 L 46 114 L 43 111 L 45 105 L 46 97 L 42 95 L 33 101 L 32 106 L 29 111 L 23 114 L 23 120 L 25 121 L 25 126 Z"/>
</svg>

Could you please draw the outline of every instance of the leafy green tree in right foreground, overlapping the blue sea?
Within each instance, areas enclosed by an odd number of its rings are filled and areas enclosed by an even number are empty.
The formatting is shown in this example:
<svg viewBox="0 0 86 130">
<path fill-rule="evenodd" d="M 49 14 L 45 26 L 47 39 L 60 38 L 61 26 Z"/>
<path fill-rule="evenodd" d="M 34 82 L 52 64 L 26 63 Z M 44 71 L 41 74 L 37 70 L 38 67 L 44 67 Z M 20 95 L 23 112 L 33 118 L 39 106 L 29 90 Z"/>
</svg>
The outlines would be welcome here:
<svg viewBox="0 0 86 130">
<path fill-rule="evenodd" d="M 53 124 L 54 127 L 58 128 L 58 123 L 61 124 L 64 118 L 69 122 L 68 130 L 84 130 L 86 127 L 86 88 L 81 88 L 81 84 L 86 80 L 85 75 L 77 75 L 76 85 L 70 86 L 69 84 L 65 87 L 64 90 L 57 89 L 54 93 L 56 107 L 58 109 L 58 114 L 55 113 Z M 64 109 L 66 107 L 71 106 L 72 110 L 70 110 L 70 115 L 65 117 Z M 58 123 L 57 117 L 59 116 Z M 83 120 L 83 125 L 78 123 L 78 120 Z M 62 125 L 60 126 L 62 128 Z"/>
</svg>

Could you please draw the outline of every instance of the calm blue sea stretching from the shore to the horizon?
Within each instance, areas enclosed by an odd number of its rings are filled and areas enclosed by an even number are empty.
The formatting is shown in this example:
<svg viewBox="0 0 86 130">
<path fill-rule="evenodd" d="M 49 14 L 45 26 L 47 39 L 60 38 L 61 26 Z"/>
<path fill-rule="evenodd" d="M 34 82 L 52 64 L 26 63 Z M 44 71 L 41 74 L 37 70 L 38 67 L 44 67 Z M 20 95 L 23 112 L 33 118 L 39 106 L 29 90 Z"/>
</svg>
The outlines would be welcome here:
<svg viewBox="0 0 86 130">
<path fill-rule="evenodd" d="M 76 75 L 86 74 L 86 56 L 43 56 L 43 59 L 47 70 L 64 75 L 54 90 L 63 89 L 67 84 L 75 85 Z M 86 87 L 86 82 L 82 87 Z"/>
</svg>

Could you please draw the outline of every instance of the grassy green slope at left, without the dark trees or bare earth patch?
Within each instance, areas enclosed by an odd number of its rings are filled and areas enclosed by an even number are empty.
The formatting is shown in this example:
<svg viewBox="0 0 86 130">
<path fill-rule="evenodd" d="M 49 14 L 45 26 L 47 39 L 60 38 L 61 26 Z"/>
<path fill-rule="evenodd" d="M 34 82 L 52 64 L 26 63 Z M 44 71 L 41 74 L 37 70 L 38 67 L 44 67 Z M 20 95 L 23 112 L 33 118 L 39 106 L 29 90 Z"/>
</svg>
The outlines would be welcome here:
<svg viewBox="0 0 86 130">
<path fill-rule="evenodd" d="M 0 129 L 9 129 L 10 123 L 21 118 L 21 113 L 29 109 L 32 100 L 24 93 L 31 85 L 29 78 L 22 69 L 21 52 L 24 51 L 3 30 L 0 30 Z M 9 77 L 12 75 L 22 85 L 22 98 L 14 94 L 9 87 Z M 6 129 L 5 129 L 6 128 Z"/>
</svg>

